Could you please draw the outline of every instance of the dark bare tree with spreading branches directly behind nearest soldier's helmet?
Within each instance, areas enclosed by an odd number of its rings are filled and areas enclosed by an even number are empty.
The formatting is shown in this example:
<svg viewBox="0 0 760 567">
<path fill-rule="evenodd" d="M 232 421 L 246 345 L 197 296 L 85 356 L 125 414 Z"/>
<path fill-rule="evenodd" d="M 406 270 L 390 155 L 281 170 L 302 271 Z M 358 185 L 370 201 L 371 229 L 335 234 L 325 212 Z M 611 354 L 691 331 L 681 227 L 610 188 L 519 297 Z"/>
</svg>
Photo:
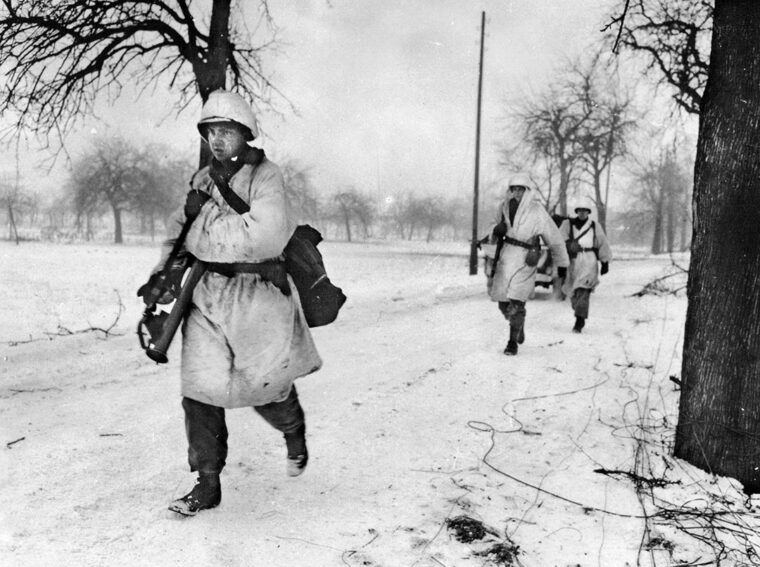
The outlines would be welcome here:
<svg viewBox="0 0 760 567">
<path fill-rule="evenodd" d="M 191 0 L 3 0 L 0 7 L 0 114 L 11 129 L 60 139 L 97 97 L 117 97 L 126 80 L 177 91 L 179 109 L 200 94 L 230 87 L 254 106 L 276 89 L 261 55 L 276 36 L 266 0 L 259 14 L 266 39 L 254 45 L 238 4 L 211 0 L 211 14 Z M 203 24 L 206 23 L 206 26 Z M 202 150 L 201 163 L 208 157 Z"/>
</svg>

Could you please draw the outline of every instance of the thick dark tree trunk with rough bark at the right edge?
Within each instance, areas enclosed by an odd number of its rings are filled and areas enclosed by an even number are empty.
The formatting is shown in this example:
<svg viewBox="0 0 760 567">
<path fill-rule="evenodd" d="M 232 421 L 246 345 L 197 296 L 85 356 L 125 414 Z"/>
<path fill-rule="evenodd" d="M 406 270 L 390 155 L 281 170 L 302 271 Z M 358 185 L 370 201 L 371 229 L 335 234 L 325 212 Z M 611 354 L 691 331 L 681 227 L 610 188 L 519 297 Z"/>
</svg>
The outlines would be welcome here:
<svg viewBox="0 0 760 567">
<path fill-rule="evenodd" d="M 717 0 L 675 455 L 760 492 L 760 2 Z"/>
</svg>

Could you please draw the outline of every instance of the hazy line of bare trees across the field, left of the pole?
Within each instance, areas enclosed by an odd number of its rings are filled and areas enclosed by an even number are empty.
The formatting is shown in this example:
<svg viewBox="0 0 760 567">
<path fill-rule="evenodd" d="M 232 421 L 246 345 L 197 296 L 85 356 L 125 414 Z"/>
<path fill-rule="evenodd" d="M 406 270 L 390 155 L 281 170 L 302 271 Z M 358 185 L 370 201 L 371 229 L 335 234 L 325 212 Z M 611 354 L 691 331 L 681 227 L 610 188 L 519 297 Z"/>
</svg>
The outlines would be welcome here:
<svg viewBox="0 0 760 567">
<path fill-rule="evenodd" d="M 119 136 L 98 139 L 72 162 L 63 193 L 46 206 L 38 194 L 0 181 L 0 219 L 5 216 L 15 231 L 12 238 L 23 223 L 35 229 L 30 232 L 36 238 L 91 240 L 106 232 L 118 244 L 129 232 L 153 240 L 181 206 L 193 170 L 190 155 L 175 155 L 166 146 L 141 148 Z M 323 192 L 297 161 L 286 160 L 282 170 L 299 222 L 327 238 L 466 240 L 470 219 L 464 198 L 411 190 L 380 197 L 354 186 Z"/>
</svg>

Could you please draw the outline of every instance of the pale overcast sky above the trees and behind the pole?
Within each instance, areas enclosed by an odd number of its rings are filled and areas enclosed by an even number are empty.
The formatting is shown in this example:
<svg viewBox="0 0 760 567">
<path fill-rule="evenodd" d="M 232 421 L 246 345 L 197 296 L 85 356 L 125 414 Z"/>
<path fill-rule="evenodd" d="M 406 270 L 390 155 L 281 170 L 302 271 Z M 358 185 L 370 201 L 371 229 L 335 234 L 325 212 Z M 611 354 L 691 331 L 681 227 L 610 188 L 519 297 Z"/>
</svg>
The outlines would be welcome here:
<svg viewBox="0 0 760 567">
<path fill-rule="evenodd" d="M 617 0 L 611 0 L 613 5 Z M 497 177 L 504 101 L 538 90 L 552 71 L 598 41 L 610 2 L 598 0 L 270 0 L 280 52 L 267 66 L 300 116 L 260 116 L 261 145 L 275 160 L 309 166 L 326 193 L 346 185 L 382 195 L 470 195 L 481 11 L 486 12 L 481 182 Z M 69 138 L 76 153 L 111 130 L 179 150 L 197 144 L 200 105 L 179 117 L 171 92 L 99 107 Z M 65 175 L 25 161 L 27 184 L 55 190 Z M 8 170 L 11 156 L 3 156 Z M 498 177 L 503 174 L 498 173 Z"/>
</svg>

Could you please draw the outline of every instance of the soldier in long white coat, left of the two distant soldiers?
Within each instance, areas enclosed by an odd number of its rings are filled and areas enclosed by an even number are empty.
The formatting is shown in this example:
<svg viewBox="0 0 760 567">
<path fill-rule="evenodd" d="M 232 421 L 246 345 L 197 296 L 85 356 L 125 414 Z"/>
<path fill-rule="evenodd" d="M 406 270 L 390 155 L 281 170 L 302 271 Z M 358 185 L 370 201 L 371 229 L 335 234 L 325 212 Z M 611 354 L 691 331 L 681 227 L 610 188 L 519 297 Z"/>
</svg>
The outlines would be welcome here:
<svg viewBox="0 0 760 567">
<path fill-rule="evenodd" d="M 488 279 L 488 293 L 499 304 L 509 321 L 506 355 L 516 355 L 517 345 L 525 340 L 525 302 L 536 283 L 536 265 L 541 242 L 549 246 L 560 277 L 567 270 L 568 257 L 564 241 L 549 213 L 536 200 L 533 182 L 520 173 L 509 180 L 509 189 L 499 205 L 491 238 L 497 253 Z"/>
</svg>

